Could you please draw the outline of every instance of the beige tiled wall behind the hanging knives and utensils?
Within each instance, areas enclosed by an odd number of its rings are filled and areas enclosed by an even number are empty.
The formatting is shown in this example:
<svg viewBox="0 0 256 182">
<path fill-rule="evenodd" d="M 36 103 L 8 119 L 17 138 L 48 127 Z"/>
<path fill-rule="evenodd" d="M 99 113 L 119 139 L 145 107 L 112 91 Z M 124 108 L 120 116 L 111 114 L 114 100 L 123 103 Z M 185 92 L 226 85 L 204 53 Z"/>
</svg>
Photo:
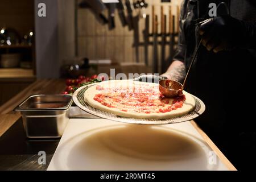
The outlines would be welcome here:
<svg viewBox="0 0 256 182">
<path fill-rule="evenodd" d="M 167 14 L 168 22 L 168 5 L 180 5 L 181 0 L 172 1 L 172 3 L 160 3 L 160 0 L 147 0 L 147 14 L 151 14 L 152 6 L 155 5 L 156 14 L 160 19 L 160 5 L 164 5 L 164 13 Z M 176 15 L 176 6 L 172 6 L 172 14 Z M 150 16 L 150 31 L 151 28 Z M 127 27 L 122 27 L 117 11 L 115 11 L 116 28 L 108 30 L 108 25 L 102 26 L 94 18 L 89 9 L 78 10 L 78 40 L 79 56 L 85 56 L 89 59 L 111 59 L 117 63 L 135 63 L 135 48 L 133 47 L 133 31 Z M 160 32 L 160 24 L 158 26 Z M 142 31 L 144 29 L 144 19 L 139 20 L 139 38 L 143 41 Z M 168 30 L 168 23 L 167 23 Z M 160 47 L 159 47 L 160 48 Z M 139 62 L 144 61 L 144 48 L 139 48 Z M 149 61 L 152 60 L 152 47 L 149 47 Z M 160 53 L 159 53 L 160 56 Z M 166 55 L 168 57 L 168 54 Z"/>
</svg>

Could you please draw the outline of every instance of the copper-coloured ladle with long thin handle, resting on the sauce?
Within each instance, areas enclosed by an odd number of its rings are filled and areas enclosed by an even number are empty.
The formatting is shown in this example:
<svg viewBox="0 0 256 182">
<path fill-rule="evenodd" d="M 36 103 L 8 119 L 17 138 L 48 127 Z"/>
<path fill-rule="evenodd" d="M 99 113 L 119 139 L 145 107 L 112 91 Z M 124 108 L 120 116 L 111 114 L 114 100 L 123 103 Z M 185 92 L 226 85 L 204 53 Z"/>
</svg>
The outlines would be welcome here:
<svg viewBox="0 0 256 182">
<path fill-rule="evenodd" d="M 196 59 L 197 52 L 199 50 L 199 47 L 201 46 L 202 40 L 200 40 L 199 45 L 196 48 L 196 52 L 193 56 L 193 60 L 191 61 L 191 64 L 189 65 L 187 75 L 185 76 L 185 79 L 183 81 L 183 84 L 181 84 L 178 81 L 175 80 L 169 80 L 169 79 L 163 79 L 159 81 L 159 91 L 162 93 L 165 97 L 175 97 L 175 96 L 181 96 L 183 93 L 185 82 L 187 81 L 188 73 Z"/>
</svg>

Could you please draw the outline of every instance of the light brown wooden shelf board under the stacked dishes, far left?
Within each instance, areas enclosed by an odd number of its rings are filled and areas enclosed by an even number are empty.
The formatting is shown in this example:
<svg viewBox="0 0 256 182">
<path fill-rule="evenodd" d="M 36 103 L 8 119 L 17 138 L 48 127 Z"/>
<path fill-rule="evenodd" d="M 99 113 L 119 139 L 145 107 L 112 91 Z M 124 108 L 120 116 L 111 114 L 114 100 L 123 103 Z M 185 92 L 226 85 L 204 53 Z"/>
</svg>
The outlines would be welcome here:
<svg viewBox="0 0 256 182">
<path fill-rule="evenodd" d="M 35 75 L 32 69 L 0 68 L 0 79 L 2 78 L 35 78 Z"/>
</svg>

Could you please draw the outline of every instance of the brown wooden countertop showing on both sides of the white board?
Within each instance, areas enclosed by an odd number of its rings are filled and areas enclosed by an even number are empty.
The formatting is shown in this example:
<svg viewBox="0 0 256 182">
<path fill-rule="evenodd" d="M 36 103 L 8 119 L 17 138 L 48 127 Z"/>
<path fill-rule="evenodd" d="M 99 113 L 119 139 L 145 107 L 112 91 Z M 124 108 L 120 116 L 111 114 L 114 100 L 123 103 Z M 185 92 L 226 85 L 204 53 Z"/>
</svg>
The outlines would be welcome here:
<svg viewBox="0 0 256 182">
<path fill-rule="evenodd" d="M 0 137 L 4 134 L 19 118 L 19 113 L 14 113 L 13 109 L 32 94 L 60 94 L 65 89 L 64 80 L 48 79 L 48 80 L 37 80 L 26 89 L 22 90 L 19 94 L 13 97 L 11 100 L 6 102 L 0 107 Z M 195 129 L 202 135 L 205 142 L 209 144 L 214 152 L 218 155 L 221 161 L 232 171 L 236 168 L 232 163 L 222 154 L 218 147 L 210 140 L 207 134 L 196 125 L 194 121 L 190 121 Z"/>
</svg>

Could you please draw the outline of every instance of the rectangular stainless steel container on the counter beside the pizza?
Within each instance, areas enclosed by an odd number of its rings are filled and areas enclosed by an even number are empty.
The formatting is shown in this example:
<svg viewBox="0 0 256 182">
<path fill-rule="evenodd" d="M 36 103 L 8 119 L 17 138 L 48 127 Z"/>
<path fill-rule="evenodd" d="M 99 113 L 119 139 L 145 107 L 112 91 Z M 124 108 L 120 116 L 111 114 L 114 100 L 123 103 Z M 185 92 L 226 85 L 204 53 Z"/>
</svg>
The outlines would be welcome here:
<svg viewBox="0 0 256 182">
<path fill-rule="evenodd" d="M 28 138 L 60 138 L 68 123 L 70 95 L 34 95 L 14 111 L 20 111 Z"/>
</svg>

